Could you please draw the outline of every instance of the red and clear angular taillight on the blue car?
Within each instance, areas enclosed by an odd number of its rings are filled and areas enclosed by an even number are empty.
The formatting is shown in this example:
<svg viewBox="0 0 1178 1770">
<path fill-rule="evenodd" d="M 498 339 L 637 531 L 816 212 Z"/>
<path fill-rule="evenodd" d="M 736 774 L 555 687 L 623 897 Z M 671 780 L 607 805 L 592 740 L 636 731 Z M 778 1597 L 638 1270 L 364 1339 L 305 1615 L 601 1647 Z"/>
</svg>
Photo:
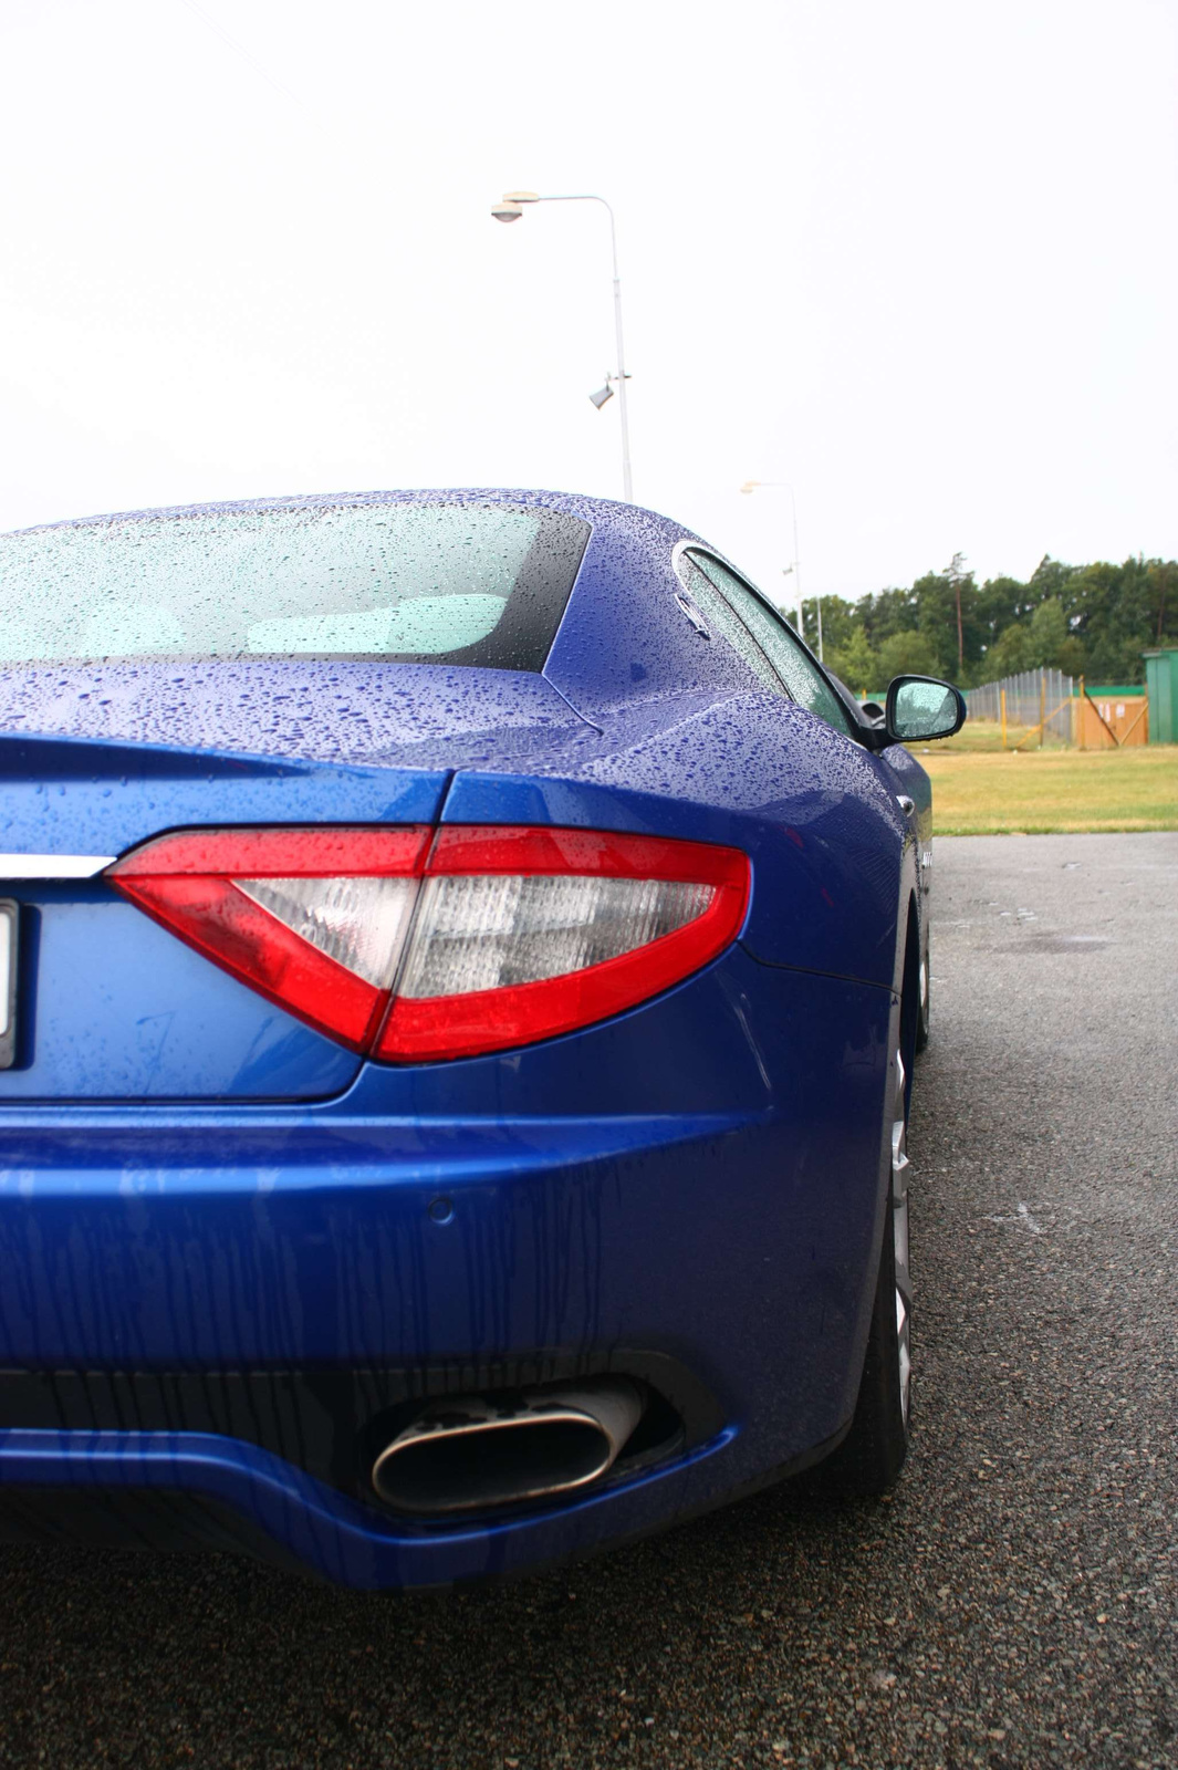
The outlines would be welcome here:
<svg viewBox="0 0 1178 1770">
<path fill-rule="evenodd" d="M 600 830 L 184 830 L 106 878 L 214 965 L 386 1062 L 531 1044 L 732 942 L 734 848 Z"/>
</svg>

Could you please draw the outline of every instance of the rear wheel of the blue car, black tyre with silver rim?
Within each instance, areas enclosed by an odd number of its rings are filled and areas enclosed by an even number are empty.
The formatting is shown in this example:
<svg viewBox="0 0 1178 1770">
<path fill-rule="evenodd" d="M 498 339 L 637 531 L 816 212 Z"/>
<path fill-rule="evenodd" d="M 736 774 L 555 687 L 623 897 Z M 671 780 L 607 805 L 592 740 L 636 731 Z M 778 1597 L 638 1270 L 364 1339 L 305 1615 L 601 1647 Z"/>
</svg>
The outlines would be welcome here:
<svg viewBox="0 0 1178 1770">
<path fill-rule="evenodd" d="M 907 1457 L 911 1409 L 913 1283 L 907 1269 L 906 1074 L 893 1073 L 891 1181 L 872 1326 L 851 1430 L 822 1464 L 822 1480 L 844 1497 L 884 1494 Z"/>
</svg>

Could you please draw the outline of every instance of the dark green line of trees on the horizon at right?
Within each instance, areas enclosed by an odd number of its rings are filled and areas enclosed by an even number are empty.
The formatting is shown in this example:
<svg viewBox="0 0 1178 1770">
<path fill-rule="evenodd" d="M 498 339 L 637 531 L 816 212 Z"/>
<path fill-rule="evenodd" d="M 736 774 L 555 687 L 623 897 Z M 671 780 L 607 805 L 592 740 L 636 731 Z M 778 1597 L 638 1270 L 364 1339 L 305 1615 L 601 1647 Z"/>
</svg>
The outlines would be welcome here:
<svg viewBox="0 0 1178 1770">
<path fill-rule="evenodd" d="M 814 600 L 805 639 L 817 648 Z M 1178 644 L 1178 561 L 1063 565 L 1044 558 L 1029 581 L 983 584 L 960 554 L 911 589 L 858 602 L 822 596 L 826 664 L 849 689 L 881 690 L 906 671 L 948 676 L 962 689 L 1019 671 L 1061 669 L 1097 683 L 1144 681 L 1143 650 Z"/>
</svg>

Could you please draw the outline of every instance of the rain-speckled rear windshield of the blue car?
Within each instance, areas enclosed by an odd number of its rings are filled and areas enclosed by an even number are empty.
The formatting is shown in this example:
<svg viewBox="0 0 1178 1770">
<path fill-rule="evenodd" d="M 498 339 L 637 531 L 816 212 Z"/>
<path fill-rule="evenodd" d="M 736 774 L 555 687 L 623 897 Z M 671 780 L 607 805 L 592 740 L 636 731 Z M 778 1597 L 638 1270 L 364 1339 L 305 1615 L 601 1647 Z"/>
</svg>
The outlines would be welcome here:
<svg viewBox="0 0 1178 1770">
<path fill-rule="evenodd" d="M 587 536 L 552 510 L 379 503 L 0 535 L 0 664 L 315 657 L 538 671 Z"/>
</svg>

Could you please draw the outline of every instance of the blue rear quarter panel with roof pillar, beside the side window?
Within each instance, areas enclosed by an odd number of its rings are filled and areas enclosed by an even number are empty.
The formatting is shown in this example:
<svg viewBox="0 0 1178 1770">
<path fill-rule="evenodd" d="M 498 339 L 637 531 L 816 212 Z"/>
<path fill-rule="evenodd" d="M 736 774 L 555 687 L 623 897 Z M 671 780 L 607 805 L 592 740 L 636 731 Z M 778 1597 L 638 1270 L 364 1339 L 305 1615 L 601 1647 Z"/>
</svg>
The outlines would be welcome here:
<svg viewBox="0 0 1178 1770">
<path fill-rule="evenodd" d="M 690 538 L 649 512 L 594 526 L 545 674 L 601 742 L 529 777 L 460 770 L 444 816 L 506 821 L 518 807 L 520 821 L 732 843 L 753 858 L 748 950 L 897 986 L 918 866 L 895 796 L 907 788 L 845 733 L 764 692 L 727 641 L 699 635 L 670 563 Z"/>
</svg>

